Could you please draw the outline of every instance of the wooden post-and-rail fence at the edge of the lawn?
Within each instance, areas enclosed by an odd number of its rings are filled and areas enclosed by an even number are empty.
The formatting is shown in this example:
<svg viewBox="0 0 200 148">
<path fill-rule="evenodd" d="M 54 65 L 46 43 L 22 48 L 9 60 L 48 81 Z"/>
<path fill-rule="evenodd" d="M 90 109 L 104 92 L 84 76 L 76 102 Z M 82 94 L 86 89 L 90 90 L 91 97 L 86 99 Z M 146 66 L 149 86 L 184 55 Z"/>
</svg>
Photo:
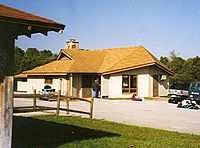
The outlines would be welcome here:
<svg viewBox="0 0 200 148">
<path fill-rule="evenodd" d="M 84 99 L 84 98 L 78 98 L 78 97 L 72 97 L 72 96 L 64 96 L 61 95 L 61 91 L 58 91 L 57 95 L 41 95 L 41 94 L 36 94 L 36 90 L 34 89 L 33 94 L 14 94 L 14 99 L 15 98 L 30 98 L 33 99 L 33 106 L 23 106 L 23 107 L 14 107 L 14 112 L 23 112 L 23 111 L 43 111 L 43 110 L 56 110 L 56 115 L 59 115 L 60 110 L 66 111 L 67 114 L 69 112 L 75 112 L 75 113 L 81 113 L 81 114 L 87 114 L 89 115 L 90 118 L 93 116 L 93 104 L 94 104 L 94 99 L 91 98 L 89 99 Z M 45 98 L 48 100 L 57 100 L 57 107 L 49 107 L 49 106 L 39 106 L 37 105 L 37 99 L 40 98 Z M 60 101 L 64 100 L 66 102 L 66 108 L 61 108 L 60 107 Z M 80 101 L 85 101 L 90 103 L 90 109 L 89 111 L 81 111 L 81 110 L 75 110 L 75 109 L 70 109 L 70 101 L 72 100 L 80 100 Z"/>
</svg>

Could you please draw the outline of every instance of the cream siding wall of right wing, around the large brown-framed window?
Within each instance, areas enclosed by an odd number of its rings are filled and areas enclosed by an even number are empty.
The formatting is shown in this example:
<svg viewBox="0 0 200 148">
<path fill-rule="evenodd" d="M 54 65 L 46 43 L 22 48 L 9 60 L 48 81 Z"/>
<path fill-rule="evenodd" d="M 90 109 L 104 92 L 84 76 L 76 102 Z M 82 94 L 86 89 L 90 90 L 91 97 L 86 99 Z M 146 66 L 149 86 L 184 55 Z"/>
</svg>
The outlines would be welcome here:
<svg viewBox="0 0 200 148">
<path fill-rule="evenodd" d="M 122 93 L 122 75 L 137 75 L 138 76 L 138 96 L 152 97 L 153 96 L 153 75 L 167 75 L 166 72 L 155 66 L 131 70 L 110 75 L 109 79 L 109 98 L 130 98 L 132 94 Z M 167 80 L 159 80 L 159 96 L 167 96 L 169 86 L 169 76 Z M 104 83 L 104 79 L 102 80 Z M 103 88 L 104 89 L 104 88 Z M 102 90 L 104 93 L 105 90 Z"/>
</svg>

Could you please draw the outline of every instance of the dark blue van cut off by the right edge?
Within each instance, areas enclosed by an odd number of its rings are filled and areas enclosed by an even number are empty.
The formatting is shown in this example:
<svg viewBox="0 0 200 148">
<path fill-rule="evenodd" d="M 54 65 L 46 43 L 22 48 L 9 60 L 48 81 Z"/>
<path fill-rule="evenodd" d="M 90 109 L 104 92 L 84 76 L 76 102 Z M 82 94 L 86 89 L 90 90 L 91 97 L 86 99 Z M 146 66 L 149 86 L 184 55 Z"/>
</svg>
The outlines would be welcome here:
<svg viewBox="0 0 200 148">
<path fill-rule="evenodd" d="M 192 82 L 190 84 L 189 98 L 200 104 L 200 82 Z"/>
</svg>

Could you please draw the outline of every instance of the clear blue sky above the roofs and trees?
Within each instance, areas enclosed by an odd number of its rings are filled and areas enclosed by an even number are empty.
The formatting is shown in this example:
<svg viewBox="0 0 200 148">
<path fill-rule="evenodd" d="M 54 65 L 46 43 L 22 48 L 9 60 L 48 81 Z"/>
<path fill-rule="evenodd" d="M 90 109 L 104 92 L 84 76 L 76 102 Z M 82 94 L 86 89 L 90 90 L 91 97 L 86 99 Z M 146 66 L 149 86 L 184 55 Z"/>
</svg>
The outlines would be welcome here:
<svg viewBox="0 0 200 148">
<path fill-rule="evenodd" d="M 80 48 L 143 45 L 156 57 L 175 50 L 200 56 L 199 0 L 0 0 L 2 4 L 66 25 L 63 34 L 21 36 L 16 45 L 58 53 L 76 38 Z"/>
</svg>

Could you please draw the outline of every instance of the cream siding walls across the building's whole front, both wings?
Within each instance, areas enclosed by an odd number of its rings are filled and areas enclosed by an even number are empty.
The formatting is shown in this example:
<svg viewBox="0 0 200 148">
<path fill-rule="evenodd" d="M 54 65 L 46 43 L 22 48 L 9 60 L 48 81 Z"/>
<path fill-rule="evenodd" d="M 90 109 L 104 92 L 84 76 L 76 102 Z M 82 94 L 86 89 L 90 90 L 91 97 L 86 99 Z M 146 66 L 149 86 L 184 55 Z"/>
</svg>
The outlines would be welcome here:
<svg viewBox="0 0 200 148">
<path fill-rule="evenodd" d="M 167 75 L 163 70 L 157 67 L 147 67 L 137 70 L 125 71 L 117 74 L 112 74 L 110 76 L 101 76 L 101 95 L 108 96 L 109 98 L 130 98 L 132 94 L 123 94 L 122 93 L 122 75 L 137 75 L 138 76 L 138 96 L 139 97 L 152 97 L 153 96 L 153 75 Z M 60 81 L 62 79 L 62 81 Z M 81 75 L 73 75 L 70 77 L 71 80 L 71 95 L 76 92 L 76 94 L 82 96 L 82 77 Z M 56 90 L 60 89 L 61 82 L 61 93 L 65 94 L 67 90 L 67 81 L 66 76 L 54 76 L 53 84 L 50 85 Z M 73 84 L 72 84 L 73 82 Z M 18 83 L 18 90 L 26 88 L 28 93 L 33 93 L 33 89 L 41 91 L 44 86 L 43 77 L 28 77 L 27 84 Z M 166 96 L 168 94 L 169 86 L 169 76 L 167 75 L 167 80 L 159 80 L 159 96 Z"/>
</svg>

